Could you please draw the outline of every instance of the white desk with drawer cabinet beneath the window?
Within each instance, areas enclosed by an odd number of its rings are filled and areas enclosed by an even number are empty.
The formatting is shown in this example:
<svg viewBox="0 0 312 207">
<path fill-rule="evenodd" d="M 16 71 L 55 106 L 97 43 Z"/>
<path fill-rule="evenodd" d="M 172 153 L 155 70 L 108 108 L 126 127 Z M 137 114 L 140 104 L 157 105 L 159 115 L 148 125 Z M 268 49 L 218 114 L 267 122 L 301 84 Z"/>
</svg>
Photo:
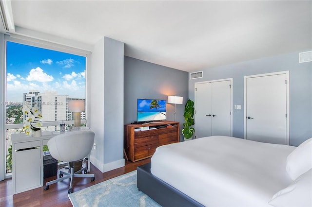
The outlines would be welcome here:
<svg viewBox="0 0 312 207">
<path fill-rule="evenodd" d="M 59 132 L 42 132 L 39 138 L 24 133 L 11 135 L 13 194 L 43 186 L 42 146 L 56 135 L 59 135 Z M 21 149 L 24 150 L 18 151 Z M 89 169 L 88 161 L 88 171 Z"/>
</svg>

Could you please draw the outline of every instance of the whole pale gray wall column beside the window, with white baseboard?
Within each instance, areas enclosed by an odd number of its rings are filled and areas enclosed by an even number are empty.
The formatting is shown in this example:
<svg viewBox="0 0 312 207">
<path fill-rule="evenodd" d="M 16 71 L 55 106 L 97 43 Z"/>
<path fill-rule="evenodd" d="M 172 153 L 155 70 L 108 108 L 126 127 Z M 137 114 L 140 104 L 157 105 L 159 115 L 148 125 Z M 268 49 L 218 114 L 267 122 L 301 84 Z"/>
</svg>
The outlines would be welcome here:
<svg viewBox="0 0 312 207">
<path fill-rule="evenodd" d="M 123 167 L 123 42 L 103 37 L 90 55 L 87 124 L 95 132 L 90 160 L 101 172 Z"/>
</svg>

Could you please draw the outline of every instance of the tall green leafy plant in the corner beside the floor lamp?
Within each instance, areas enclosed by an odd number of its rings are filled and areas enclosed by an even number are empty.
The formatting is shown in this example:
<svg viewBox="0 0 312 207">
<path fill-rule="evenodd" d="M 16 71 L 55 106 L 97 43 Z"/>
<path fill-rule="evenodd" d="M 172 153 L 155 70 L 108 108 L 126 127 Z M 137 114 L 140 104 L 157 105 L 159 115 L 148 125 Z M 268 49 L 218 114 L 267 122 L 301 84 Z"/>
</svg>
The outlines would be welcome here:
<svg viewBox="0 0 312 207">
<path fill-rule="evenodd" d="M 194 102 L 189 99 L 185 104 L 183 115 L 185 119 L 185 123 L 183 123 L 184 128 L 182 129 L 184 140 L 191 140 L 194 135 L 195 129 L 191 127 L 194 125 L 194 110 Z"/>
</svg>

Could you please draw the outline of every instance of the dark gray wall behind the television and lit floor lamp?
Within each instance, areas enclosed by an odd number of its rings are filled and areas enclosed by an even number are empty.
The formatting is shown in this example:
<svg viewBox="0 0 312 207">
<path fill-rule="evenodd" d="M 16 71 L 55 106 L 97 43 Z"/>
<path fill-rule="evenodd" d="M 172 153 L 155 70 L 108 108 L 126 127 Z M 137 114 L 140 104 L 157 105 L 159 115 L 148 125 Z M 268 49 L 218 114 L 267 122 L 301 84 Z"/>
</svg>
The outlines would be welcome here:
<svg viewBox="0 0 312 207">
<path fill-rule="evenodd" d="M 176 121 L 184 122 L 184 105 L 188 100 L 188 72 L 167 68 L 131 57 L 124 57 L 124 122 L 137 121 L 137 99 L 162 99 L 183 96 L 176 104 Z M 167 120 L 174 121 L 174 104 L 167 104 Z M 180 140 L 181 139 L 180 130 Z"/>
</svg>

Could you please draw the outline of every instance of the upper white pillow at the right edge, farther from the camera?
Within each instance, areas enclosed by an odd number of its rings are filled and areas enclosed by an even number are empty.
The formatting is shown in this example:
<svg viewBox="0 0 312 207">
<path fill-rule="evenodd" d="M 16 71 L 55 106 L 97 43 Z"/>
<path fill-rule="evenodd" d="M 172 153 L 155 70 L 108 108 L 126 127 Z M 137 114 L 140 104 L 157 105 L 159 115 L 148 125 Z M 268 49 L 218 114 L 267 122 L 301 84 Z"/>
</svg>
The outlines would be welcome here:
<svg viewBox="0 0 312 207">
<path fill-rule="evenodd" d="M 304 141 L 287 156 L 286 171 L 292 180 L 312 168 L 312 138 Z"/>
</svg>

